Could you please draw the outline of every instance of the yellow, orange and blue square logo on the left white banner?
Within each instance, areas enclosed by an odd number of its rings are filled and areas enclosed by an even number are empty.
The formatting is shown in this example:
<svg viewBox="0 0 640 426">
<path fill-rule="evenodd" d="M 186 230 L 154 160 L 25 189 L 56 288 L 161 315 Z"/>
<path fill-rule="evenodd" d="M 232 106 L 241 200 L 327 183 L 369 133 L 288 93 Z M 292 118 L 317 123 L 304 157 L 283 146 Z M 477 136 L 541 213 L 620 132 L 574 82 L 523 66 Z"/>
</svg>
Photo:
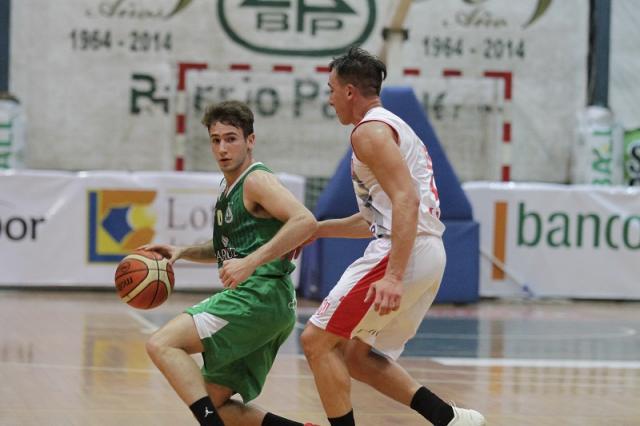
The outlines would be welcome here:
<svg viewBox="0 0 640 426">
<path fill-rule="evenodd" d="M 118 262 L 150 243 L 156 218 L 149 206 L 155 197 L 155 191 L 88 191 L 89 262 Z"/>
</svg>

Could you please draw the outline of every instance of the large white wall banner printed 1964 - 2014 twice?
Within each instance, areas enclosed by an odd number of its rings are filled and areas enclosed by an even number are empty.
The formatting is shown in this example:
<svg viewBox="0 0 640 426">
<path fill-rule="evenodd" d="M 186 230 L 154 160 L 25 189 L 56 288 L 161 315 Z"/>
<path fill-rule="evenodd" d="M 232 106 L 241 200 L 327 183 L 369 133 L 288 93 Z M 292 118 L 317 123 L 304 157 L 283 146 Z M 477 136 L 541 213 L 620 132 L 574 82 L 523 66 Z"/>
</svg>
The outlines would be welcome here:
<svg viewBox="0 0 640 426">
<path fill-rule="evenodd" d="M 233 81 L 225 75 L 260 72 L 279 81 L 260 75 L 262 92 L 223 95 L 251 101 L 258 137 L 286 153 L 276 170 L 330 176 L 348 131 L 327 104 L 327 65 L 352 44 L 381 53 L 401 4 L 12 2 L 10 89 L 27 112 L 27 167 L 171 169 L 192 149 L 184 125 L 199 122 L 200 95 L 220 98 L 215 91 Z M 416 88 L 462 180 L 565 182 L 585 103 L 588 22 L 584 0 L 414 0 L 402 23 L 408 38 L 389 56 L 399 75 L 389 84 Z M 221 73 L 218 85 L 187 96 L 189 75 L 202 69 Z M 489 98 L 465 94 L 486 92 L 487 80 L 500 85 Z"/>
</svg>

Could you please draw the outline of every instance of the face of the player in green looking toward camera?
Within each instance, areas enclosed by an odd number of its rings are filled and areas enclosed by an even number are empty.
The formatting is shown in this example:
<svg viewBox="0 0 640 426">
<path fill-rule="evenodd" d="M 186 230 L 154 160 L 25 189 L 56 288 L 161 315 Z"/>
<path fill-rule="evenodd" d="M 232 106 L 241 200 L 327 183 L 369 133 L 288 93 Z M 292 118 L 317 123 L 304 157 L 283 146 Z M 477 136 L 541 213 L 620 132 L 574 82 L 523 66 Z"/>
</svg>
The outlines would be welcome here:
<svg viewBox="0 0 640 426">
<path fill-rule="evenodd" d="M 218 121 L 209 127 L 209 138 L 213 156 L 222 173 L 243 171 L 251 162 L 255 143 L 253 133 L 245 138 L 242 129 Z"/>
</svg>

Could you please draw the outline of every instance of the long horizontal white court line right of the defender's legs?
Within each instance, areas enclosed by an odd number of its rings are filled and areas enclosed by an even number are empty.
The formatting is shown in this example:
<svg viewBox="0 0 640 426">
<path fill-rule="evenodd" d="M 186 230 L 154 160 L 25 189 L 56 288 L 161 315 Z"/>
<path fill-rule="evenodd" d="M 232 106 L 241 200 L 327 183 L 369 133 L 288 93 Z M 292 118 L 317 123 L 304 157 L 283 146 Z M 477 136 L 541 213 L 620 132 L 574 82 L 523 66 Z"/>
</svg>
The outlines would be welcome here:
<svg viewBox="0 0 640 426">
<path fill-rule="evenodd" d="M 458 367 L 550 367 L 640 369 L 638 361 L 590 361 L 582 359 L 513 359 L 513 358 L 431 358 L 443 365 Z"/>
</svg>

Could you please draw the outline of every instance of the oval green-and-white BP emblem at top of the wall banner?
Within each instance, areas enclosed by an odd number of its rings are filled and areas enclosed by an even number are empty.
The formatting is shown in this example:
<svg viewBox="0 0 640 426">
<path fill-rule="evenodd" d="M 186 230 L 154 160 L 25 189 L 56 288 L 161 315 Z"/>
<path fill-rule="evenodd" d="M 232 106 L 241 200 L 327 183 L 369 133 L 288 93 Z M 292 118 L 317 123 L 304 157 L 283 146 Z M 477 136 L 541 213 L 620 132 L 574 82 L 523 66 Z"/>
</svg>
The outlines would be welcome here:
<svg viewBox="0 0 640 426">
<path fill-rule="evenodd" d="M 255 52 L 331 56 L 369 37 L 376 4 L 375 0 L 219 0 L 218 17 L 233 41 Z"/>
</svg>

